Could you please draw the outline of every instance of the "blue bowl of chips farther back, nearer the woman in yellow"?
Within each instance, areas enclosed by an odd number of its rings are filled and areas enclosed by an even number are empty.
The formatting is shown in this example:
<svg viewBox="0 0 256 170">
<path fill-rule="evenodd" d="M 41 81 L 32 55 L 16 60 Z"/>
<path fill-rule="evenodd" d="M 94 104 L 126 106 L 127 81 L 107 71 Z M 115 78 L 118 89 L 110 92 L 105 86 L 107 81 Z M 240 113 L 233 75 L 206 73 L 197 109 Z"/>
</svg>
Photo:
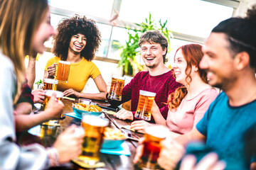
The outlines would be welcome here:
<svg viewBox="0 0 256 170">
<path fill-rule="evenodd" d="M 75 103 L 72 106 L 73 111 L 76 115 L 80 115 L 82 117 L 82 113 L 88 113 L 91 115 L 101 115 L 102 114 L 102 108 L 100 108 L 97 105 L 87 105 L 85 103 Z"/>
</svg>

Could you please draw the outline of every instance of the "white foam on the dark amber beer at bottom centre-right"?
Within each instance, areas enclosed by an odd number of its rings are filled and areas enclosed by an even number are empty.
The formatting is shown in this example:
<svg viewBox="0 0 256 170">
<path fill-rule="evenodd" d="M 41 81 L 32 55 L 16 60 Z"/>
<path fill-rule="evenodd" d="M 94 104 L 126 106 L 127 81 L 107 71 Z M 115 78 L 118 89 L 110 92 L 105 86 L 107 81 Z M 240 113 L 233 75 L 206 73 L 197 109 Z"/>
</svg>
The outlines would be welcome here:
<svg viewBox="0 0 256 170">
<path fill-rule="evenodd" d="M 145 132 L 151 136 L 163 139 L 169 134 L 169 129 L 163 125 L 151 125 L 145 128 Z"/>
</svg>

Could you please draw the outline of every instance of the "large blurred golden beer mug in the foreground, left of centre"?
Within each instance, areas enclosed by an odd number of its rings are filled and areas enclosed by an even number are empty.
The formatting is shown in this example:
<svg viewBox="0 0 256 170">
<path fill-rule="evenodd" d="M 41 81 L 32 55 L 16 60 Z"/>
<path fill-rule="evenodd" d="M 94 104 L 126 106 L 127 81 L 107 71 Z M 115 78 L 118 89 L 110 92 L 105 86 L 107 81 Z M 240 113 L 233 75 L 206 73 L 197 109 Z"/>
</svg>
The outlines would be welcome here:
<svg viewBox="0 0 256 170">
<path fill-rule="evenodd" d="M 104 131 L 109 123 L 108 119 L 82 113 L 81 126 L 85 129 L 85 137 L 82 143 L 82 154 L 78 158 L 85 164 L 94 165 L 100 161 Z"/>
</svg>

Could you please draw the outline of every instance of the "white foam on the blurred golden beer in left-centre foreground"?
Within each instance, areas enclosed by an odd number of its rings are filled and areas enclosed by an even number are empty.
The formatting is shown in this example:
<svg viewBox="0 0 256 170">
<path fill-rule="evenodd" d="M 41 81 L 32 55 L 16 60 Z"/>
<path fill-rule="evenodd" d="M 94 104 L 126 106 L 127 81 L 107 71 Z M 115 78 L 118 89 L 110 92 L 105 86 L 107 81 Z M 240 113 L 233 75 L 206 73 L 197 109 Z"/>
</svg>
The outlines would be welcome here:
<svg viewBox="0 0 256 170">
<path fill-rule="evenodd" d="M 107 125 L 109 125 L 110 120 L 100 118 L 97 115 L 88 115 L 87 113 L 83 113 L 82 122 L 93 126 L 106 127 Z"/>
</svg>

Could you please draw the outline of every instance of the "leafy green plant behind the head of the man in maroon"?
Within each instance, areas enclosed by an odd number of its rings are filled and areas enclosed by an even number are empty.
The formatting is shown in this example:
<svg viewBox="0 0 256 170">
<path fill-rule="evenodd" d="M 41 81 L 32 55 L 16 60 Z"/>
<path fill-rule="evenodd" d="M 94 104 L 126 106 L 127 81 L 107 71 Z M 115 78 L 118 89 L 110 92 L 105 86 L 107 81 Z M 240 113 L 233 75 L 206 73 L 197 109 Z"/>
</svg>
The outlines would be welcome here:
<svg viewBox="0 0 256 170">
<path fill-rule="evenodd" d="M 168 51 L 171 50 L 170 39 L 173 38 L 173 34 L 171 33 L 171 30 L 168 30 L 166 28 L 166 23 L 167 20 L 162 23 L 160 19 L 159 26 L 157 26 L 157 24 L 154 23 L 154 20 L 152 21 L 151 19 L 151 13 L 149 13 L 149 18 L 146 18 L 145 22 L 135 23 L 139 29 L 132 30 L 127 28 L 129 38 L 125 45 L 121 45 L 117 41 L 112 42 L 112 46 L 114 48 L 122 50 L 120 54 L 121 60 L 119 60 L 118 62 L 118 67 L 122 66 L 123 74 L 133 75 L 134 69 L 142 71 L 143 66 L 142 64 L 139 64 L 139 62 L 137 62 L 136 56 L 139 55 L 139 35 L 146 32 L 147 30 L 161 31 L 161 33 L 166 36 L 169 42 Z"/>
</svg>

